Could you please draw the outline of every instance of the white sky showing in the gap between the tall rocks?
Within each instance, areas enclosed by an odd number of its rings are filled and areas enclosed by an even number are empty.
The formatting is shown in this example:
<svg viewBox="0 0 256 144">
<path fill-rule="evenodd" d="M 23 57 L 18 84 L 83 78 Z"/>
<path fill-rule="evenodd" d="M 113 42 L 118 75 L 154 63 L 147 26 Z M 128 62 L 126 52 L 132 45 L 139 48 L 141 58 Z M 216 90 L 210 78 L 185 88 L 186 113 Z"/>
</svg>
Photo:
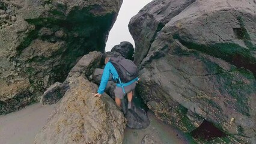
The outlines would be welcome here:
<svg viewBox="0 0 256 144">
<path fill-rule="evenodd" d="M 106 52 L 110 51 L 112 47 L 120 44 L 122 41 L 129 41 L 135 47 L 132 35 L 130 35 L 128 24 L 130 19 L 138 14 L 145 5 L 152 0 L 123 0 L 121 9 L 117 16 L 117 20 L 111 31 L 109 32 L 108 41 L 106 42 Z"/>
</svg>

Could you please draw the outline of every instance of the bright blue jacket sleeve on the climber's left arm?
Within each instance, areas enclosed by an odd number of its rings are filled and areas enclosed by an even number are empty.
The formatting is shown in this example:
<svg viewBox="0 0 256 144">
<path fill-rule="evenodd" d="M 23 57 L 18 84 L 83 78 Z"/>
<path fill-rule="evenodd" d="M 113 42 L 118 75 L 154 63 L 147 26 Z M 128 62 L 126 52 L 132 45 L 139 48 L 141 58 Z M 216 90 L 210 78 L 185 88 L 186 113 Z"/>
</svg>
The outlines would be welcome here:
<svg viewBox="0 0 256 144">
<path fill-rule="evenodd" d="M 112 74 L 113 79 L 117 79 L 119 77 L 114 65 L 112 65 L 111 62 L 107 62 L 103 70 L 102 80 L 100 81 L 100 86 L 98 89 L 99 94 L 103 94 L 103 92 L 105 91 L 110 74 Z"/>
</svg>

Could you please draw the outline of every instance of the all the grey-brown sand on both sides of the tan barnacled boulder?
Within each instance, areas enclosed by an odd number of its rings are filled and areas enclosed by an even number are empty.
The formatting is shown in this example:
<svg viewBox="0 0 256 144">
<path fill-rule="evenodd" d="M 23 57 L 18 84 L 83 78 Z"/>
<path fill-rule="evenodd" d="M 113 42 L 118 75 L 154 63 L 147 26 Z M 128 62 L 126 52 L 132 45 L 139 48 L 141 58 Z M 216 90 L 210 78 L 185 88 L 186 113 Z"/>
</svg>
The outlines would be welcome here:
<svg viewBox="0 0 256 144">
<path fill-rule="evenodd" d="M 18 112 L 0 115 L 0 143 L 5 144 L 32 144 L 35 135 L 42 130 L 47 118 L 55 104 L 44 105 L 32 104 Z M 152 112 L 148 112 L 150 126 L 144 130 L 126 128 L 124 131 L 123 144 L 138 143 L 147 134 L 154 143 L 161 144 L 186 144 L 186 137 L 169 125 L 163 124 L 156 119 Z"/>
</svg>

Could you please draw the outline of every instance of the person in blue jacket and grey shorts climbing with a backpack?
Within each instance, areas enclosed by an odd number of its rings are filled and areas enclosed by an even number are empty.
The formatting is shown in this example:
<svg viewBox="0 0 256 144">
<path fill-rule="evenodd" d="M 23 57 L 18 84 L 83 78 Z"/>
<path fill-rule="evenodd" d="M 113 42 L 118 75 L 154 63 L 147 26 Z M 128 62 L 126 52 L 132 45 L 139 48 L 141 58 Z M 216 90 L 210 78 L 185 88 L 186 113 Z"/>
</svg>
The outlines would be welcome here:
<svg viewBox="0 0 256 144">
<path fill-rule="evenodd" d="M 138 79 L 138 68 L 129 59 L 124 59 L 121 56 L 118 58 L 106 58 L 105 68 L 102 74 L 102 80 L 97 94 L 94 97 L 100 97 L 105 91 L 108 84 L 109 76 L 112 74 L 112 79 L 117 82 L 115 87 L 115 103 L 121 107 L 121 99 L 127 94 L 128 109 L 132 107 L 133 90 L 135 89 Z"/>
</svg>

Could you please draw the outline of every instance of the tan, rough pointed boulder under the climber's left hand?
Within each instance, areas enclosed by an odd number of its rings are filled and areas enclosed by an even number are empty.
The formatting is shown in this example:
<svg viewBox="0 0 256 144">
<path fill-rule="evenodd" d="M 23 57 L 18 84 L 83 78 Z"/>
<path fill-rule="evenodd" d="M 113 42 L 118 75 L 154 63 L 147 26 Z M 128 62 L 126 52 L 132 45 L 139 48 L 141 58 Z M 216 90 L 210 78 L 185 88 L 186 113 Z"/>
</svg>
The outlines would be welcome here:
<svg viewBox="0 0 256 144">
<path fill-rule="evenodd" d="M 126 121 L 106 94 L 93 97 L 97 85 L 70 77 L 70 89 L 51 114 L 34 143 L 122 143 Z"/>
</svg>

